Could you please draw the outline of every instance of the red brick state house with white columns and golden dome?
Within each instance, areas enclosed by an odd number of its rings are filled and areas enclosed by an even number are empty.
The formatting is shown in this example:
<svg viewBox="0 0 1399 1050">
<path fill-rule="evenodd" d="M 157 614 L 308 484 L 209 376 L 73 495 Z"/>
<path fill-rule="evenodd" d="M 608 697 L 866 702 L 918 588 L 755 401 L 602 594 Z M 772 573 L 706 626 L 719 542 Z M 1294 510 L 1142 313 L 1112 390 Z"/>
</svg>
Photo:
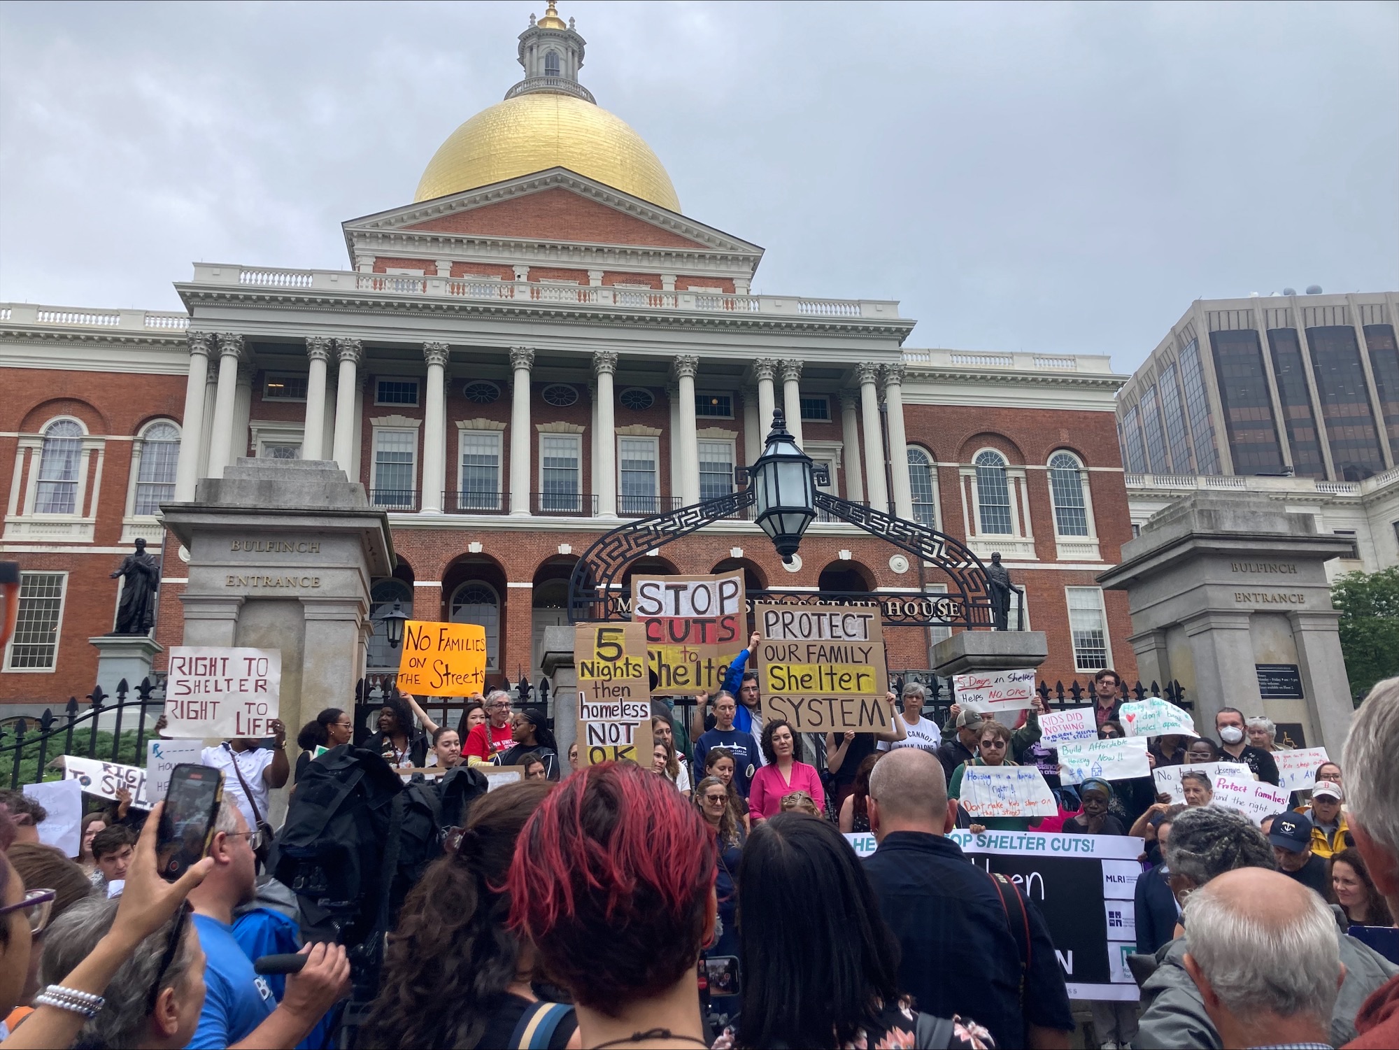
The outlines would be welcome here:
<svg viewBox="0 0 1399 1050">
<path fill-rule="evenodd" d="M 347 269 L 199 263 L 180 314 L 0 305 L 3 550 L 22 570 L 0 699 L 92 687 L 108 574 L 139 536 L 164 566 L 155 638 L 180 643 L 185 563 L 159 507 L 239 456 L 339 463 L 389 514 L 397 568 L 375 609 L 480 623 L 491 679 L 537 680 L 578 556 L 730 491 L 774 406 L 832 493 L 1002 553 L 1025 626 L 1048 633 L 1051 685 L 1135 678 L 1126 596 L 1095 582 L 1132 535 L 1108 358 L 908 349 L 898 302 L 753 294 L 762 249 L 684 213 L 579 83 L 583 39 L 553 6 L 519 62 L 411 203 L 344 223 Z M 804 592 L 946 587 L 820 519 L 792 566 L 747 519 L 637 566 L 734 567 Z M 264 582 L 249 596 L 297 599 Z M 890 629 L 891 669 L 928 668 L 946 631 Z M 374 637 L 367 666 L 397 655 Z"/>
</svg>

